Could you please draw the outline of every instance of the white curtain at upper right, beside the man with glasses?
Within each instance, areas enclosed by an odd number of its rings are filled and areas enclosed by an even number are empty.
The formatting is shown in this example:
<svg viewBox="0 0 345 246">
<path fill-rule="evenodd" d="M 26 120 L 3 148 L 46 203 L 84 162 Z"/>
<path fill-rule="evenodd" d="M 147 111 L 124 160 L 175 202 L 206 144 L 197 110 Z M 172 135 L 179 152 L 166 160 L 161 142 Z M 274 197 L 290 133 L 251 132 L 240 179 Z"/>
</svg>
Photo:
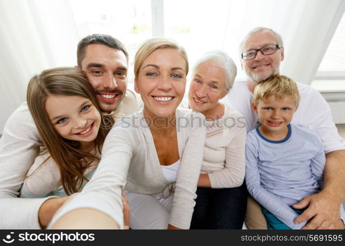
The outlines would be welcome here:
<svg viewBox="0 0 345 246">
<path fill-rule="evenodd" d="M 310 85 L 344 12 L 344 0 L 303 1 L 285 33 L 281 73 Z"/>
</svg>

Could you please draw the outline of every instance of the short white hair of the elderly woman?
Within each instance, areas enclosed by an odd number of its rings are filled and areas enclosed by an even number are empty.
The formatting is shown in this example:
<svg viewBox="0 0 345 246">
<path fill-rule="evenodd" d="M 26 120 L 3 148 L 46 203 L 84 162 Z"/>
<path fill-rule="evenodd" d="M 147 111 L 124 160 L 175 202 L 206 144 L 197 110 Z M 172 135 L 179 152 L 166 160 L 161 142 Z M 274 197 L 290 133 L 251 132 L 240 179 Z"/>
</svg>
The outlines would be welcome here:
<svg viewBox="0 0 345 246">
<path fill-rule="evenodd" d="M 226 78 L 226 92 L 229 92 L 232 88 L 236 75 L 237 67 L 235 62 L 224 51 L 211 50 L 203 54 L 194 64 L 193 75 L 198 66 L 205 62 L 213 62 L 215 66 L 218 66 L 224 71 Z"/>
</svg>

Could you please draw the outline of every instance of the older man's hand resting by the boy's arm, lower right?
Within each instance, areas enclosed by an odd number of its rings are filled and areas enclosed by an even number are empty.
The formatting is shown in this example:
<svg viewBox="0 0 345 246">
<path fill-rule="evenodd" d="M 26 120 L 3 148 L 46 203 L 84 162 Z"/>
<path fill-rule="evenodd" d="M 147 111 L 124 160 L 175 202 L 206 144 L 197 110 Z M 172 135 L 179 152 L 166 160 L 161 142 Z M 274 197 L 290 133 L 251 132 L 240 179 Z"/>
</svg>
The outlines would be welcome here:
<svg viewBox="0 0 345 246">
<path fill-rule="evenodd" d="M 293 205 L 295 209 L 308 207 L 294 222 L 299 224 L 312 218 L 302 229 L 334 229 L 340 219 L 340 205 L 341 202 L 324 191 L 307 196 Z"/>
</svg>

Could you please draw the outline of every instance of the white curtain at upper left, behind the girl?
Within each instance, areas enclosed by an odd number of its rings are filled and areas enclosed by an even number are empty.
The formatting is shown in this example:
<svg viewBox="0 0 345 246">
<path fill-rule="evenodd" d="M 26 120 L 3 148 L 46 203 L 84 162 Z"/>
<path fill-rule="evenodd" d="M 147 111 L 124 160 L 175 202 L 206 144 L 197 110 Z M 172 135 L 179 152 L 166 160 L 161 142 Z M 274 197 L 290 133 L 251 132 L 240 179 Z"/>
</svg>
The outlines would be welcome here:
<svg viewBox="0 0 345 246">
<path fill-rule="evenodd" d="M 0 133 L 33 75 L 76 64 L 78 39 L 68 0 L 0 0 Z"/>
</svg>

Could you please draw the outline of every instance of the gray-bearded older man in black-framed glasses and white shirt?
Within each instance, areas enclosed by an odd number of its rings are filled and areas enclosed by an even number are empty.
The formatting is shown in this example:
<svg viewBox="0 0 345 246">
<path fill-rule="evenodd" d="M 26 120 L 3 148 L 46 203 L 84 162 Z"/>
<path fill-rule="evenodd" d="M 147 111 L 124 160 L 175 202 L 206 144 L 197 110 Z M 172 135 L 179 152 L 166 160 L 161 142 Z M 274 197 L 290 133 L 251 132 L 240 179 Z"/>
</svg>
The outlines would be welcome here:
<svg viewBox="0 0 345 246">
<path fill-rule="evenodd" d="M 280 62 L 284 60 L 282 38 L 272 29 L 255 28 L 243 39 L 240 54 L 247 80 L 236 81 L 224 101 L 243 114 L 247 131 L 250 131 L 259 124 L 251 107 L 254 88 L 261 81 L 279 73 Z M 301 102 L 292 123 L 305 125 L 320 136 L 326 154 L 326 166 L 323 190 L 294 205 L 296 209 L 308 208 L 295 219 L 295 223 L 310 219 L 304 229 L 331 229 L 339 221 L 339 208 L 345 198 L 345 142 L 339 136 L 330 108 L 321 94 L 310 86 L 297 84 Z M 254 202 L 249 198 L 246 224 L 249 229 L 267 229 L 261 209 Z M 258 213 L 261 215 L 258 216 Z"/>
</svg>

